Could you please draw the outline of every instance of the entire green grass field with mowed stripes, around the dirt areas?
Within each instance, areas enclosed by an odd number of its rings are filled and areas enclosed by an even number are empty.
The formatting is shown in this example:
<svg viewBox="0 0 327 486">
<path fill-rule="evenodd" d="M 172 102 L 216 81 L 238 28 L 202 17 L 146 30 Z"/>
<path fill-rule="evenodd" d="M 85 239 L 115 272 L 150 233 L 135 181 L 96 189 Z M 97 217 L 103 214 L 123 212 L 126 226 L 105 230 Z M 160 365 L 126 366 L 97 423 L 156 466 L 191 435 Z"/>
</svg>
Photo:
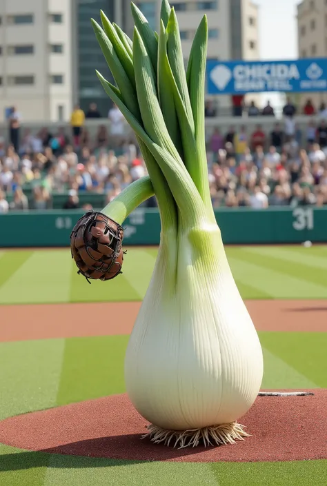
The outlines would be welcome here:
<svg viewBox="0 0 327 486">
<path fill-rule="evenodd" d="M 327 297 L 326 246 L 230 247 L 227 252 L 246 299 Z M 123 276 L 88 285 L 77 275 L 69 250 L 1 251 L 0 303 L 139 301 L 146 292 L 155 255 L 153 248 L 131 248 Z M 263 387 L 327 387 L 327 333 L 261 332 L 260 339 L 265 363 Z M 0 343 L 0 420 L 124 392 L 127 341 L 128 336 L 106 336 Z M 133 463 L 26 452 L 0 445 L 1 486 L 184 484 L 326 486 L 327 461 Z"/>
</svg>

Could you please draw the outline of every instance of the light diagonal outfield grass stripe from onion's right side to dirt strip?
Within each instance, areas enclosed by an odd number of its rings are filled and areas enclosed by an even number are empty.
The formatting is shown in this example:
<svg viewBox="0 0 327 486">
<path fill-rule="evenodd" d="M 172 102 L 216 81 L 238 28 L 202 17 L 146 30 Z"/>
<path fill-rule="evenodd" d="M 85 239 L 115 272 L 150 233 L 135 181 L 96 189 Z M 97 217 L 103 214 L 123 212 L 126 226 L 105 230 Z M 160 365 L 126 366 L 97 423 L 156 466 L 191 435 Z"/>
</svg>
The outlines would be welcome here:
<svg viewBox="0 0 327 486">
<path fill-rule="evenodd" d="M 229 257 L 232 274 L 236 281 L 248 283 L 258 290 L 264 290 L 272 298 L 325 298 L 327 289 L 322 285 L 297 279 L 275 269 L 257 265 L 255 259 L 246 261 L 241 252 L 237 258 Z M 252 256 L 252 255 L 250 255 Z M 244 258 L 244 260 L 243 260 Z"/>
</svg>

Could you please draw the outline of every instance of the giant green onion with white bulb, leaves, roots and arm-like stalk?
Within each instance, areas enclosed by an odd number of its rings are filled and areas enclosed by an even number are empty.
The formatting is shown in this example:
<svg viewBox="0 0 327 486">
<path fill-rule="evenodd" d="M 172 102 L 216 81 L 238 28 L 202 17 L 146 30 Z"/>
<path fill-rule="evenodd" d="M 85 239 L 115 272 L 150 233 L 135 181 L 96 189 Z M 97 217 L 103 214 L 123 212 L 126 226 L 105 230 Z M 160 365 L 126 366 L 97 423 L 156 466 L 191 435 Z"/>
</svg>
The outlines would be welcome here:
<svg viewBox="0 0 327 486">
<path fill-rule="evenodd" d="M 259 392 L 259 338 L 232 277 L 208 188 L 204 17 L 184 70 L 179 26 L 167 0 L 159 34 L 132 4 L 133 41 L 103 12 L 95 34 L 117 85 L 98 77 L 135 131 L 149 176 L 103 210 L 122 224 L 157 197 L 161 242 L 125 361 L 130 401 L 148 436 L 165 444 L 234 443 Z M 115 285 L 111 283 L 110 285 Z"/>
</svg>

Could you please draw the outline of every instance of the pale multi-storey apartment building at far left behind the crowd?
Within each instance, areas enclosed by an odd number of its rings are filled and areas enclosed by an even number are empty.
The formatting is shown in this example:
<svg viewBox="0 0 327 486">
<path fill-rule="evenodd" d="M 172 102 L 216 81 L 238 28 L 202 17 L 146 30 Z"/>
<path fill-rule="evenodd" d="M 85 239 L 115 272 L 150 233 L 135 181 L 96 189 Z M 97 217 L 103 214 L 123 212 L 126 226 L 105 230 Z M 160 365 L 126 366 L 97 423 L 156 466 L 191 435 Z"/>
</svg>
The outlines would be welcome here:
<svg viewBox="0 0 327 486">
<path fill-rule="evenodd" d="M 66 119 L 72 108 L 72 9 L 66 0 L 0 0 L 0 119 Z"/>
</svg>

